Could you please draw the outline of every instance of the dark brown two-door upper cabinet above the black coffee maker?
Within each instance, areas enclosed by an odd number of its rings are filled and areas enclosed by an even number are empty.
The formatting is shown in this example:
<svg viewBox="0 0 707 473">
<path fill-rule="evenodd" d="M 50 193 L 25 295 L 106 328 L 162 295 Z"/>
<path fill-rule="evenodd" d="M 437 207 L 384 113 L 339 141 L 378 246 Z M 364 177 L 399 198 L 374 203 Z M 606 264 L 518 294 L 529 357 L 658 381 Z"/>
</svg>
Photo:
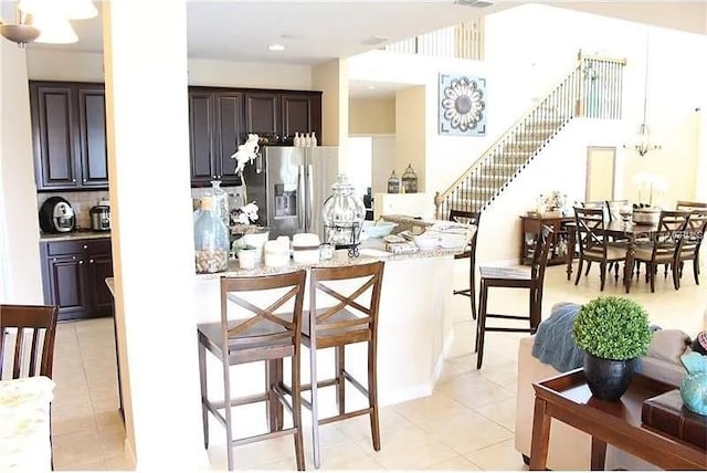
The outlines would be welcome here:
<svg viewBox="0 0 707 473">
<path fill-rule="evenodd" d="M 30 82 L 38 190 L 106 189 L 103 84 Z"/>
</svg>

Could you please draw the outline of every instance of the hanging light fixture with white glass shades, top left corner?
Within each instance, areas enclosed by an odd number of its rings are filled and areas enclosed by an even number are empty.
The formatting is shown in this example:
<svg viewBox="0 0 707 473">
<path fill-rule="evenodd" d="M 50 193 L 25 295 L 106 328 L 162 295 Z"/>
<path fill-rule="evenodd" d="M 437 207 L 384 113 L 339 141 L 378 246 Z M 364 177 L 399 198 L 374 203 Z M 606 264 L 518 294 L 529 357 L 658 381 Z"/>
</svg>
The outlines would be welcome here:
<svg viewBox="0 0 707 473">
<path fill-rule="evenodd" d="M 91 0 L 20 0 L 15 7 L 15 23 L 0 20 L 0 34 L 20 48 L 31 42 L 75 43 L 78 36 L 68 20 L 97 14 Z"/>
</svg>

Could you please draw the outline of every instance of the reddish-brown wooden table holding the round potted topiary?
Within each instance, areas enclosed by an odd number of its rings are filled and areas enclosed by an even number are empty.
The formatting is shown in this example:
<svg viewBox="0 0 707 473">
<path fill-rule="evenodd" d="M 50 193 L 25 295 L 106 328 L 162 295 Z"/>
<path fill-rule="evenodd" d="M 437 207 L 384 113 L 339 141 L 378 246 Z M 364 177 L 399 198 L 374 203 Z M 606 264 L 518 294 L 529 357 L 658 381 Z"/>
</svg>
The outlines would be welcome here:
<svg viewBox="0 0 707 473">
<path fill-rule="evenodd" d="M 707 470 L 707 452 L 641 424 L 643 401 L 675 389 L 674 386 L 635 374 L 621 400 L 603 401 L 592 397 L 584 371 L 579 368 L 534 382 L 532 388 L 530 470 L 547 466 L 552 418 L 592 435 L 592 470 L 604 469 L 606 443 L 665 470 Z"/>
</svg>

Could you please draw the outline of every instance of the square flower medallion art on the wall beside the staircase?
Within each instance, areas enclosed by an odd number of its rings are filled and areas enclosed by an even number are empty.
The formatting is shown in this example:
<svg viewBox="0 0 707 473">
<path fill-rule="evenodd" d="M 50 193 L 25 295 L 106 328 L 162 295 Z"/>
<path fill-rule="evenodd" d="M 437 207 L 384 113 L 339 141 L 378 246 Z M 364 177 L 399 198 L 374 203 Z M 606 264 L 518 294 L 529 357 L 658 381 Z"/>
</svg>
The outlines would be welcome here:
<svg viewBox="0 0 707 473">
<path fill-rule="evenodd" d="M 440 135 L 486 135 L 486 80 L 440 74 Z"/>
</svg>

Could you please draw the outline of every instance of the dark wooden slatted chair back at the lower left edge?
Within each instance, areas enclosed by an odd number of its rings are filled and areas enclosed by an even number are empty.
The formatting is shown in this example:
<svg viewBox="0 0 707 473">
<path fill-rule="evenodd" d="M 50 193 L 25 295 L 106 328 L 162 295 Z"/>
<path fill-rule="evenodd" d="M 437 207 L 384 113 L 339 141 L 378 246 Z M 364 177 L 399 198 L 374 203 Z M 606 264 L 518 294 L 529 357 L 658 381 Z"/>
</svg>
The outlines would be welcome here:
<svg viewBox="0 0 707 473">
<path fill-rule="evenodd" d="M 57 314 L 56 306 L 0 305 L 0 379 L 52 377 Z"/>
</svg>

